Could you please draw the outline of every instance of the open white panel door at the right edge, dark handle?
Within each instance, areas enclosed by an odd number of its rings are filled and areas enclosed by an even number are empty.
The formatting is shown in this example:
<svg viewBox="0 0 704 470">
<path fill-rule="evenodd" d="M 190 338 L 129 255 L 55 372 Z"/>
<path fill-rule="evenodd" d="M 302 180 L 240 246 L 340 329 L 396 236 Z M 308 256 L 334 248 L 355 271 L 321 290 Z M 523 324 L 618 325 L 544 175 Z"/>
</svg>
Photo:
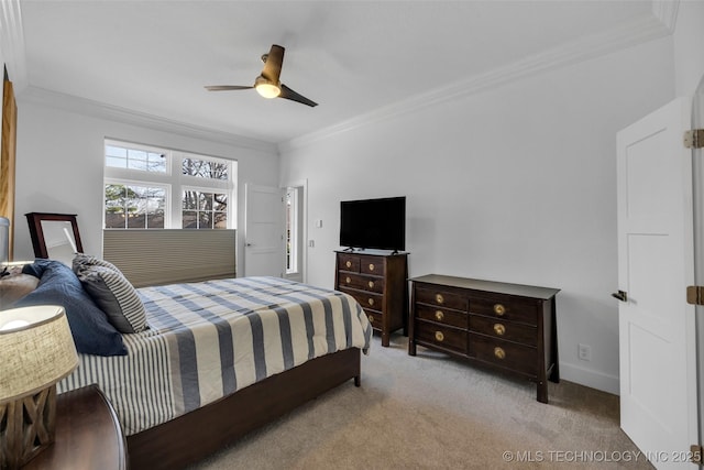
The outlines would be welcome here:
<svg viewBox="0 0 704 470">
<path fill-rule="evenodd" d="M 617 136 L 620 425 L 658 469 L 690 468 L 675 460 L 698 442 L 690 110 L 678 99 Z"/>
</svg>

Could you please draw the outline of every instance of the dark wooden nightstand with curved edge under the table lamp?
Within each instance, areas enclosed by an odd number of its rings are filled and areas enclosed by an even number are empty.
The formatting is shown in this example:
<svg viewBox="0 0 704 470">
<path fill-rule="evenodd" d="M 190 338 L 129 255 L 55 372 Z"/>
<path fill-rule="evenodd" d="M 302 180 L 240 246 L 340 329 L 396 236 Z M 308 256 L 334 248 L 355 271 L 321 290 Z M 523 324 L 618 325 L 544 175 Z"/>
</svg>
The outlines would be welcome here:
<svg viewBox="0 0 704 470">
<path fill-rule="evenodd" d="M 22 470 L 128 468 L 124 434 L 112 405 L 97 385 L 56 398 L 56 440 Z"/>
</svg>

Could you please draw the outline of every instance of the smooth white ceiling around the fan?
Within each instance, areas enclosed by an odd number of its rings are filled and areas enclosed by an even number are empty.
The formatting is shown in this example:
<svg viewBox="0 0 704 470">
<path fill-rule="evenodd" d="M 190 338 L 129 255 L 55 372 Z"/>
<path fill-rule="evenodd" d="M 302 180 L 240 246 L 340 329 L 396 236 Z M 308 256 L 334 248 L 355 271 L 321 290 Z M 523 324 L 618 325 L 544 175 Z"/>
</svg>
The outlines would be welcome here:
<svg viewBox="0 0 704 470">
<path fill-rule="evenodd" d="M 667 34 L 657 6 L 20 0 L 19 55 L 30 92 L 282 143 L 433 92 L 607 53 L 658 29 Z M 282 83 L 318 107 L 204 88 L 252 85 L 273 43 L 286 47 Z"/>
</svg>

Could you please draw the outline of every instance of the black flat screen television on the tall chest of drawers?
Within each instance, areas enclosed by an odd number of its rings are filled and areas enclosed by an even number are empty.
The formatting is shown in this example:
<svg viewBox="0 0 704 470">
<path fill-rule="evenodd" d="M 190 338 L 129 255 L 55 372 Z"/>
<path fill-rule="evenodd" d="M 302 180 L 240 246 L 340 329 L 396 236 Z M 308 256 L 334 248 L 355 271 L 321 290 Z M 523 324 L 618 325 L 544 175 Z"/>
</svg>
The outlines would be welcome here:
<svg viewBox="0 0 704 470">
<path fill-rule="evenodd" d="M 406 249 L 406 197 L 340 203 L 340 245 L 349 249 Z"/>
</svg>

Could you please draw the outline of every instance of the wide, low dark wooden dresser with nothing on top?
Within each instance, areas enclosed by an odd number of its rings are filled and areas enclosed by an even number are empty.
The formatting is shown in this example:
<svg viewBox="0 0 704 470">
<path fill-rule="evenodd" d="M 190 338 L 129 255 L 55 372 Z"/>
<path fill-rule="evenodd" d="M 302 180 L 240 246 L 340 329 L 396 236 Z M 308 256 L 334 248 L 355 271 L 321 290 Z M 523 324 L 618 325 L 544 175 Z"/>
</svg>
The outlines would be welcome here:
<svg viewBox="0 0 704 470">
<path fill-rule="evenodd" d="M 536 382 L 560 381 L 557 288 L 430 274 L 414 277 L 408 353 L 443 351 Z"/>
</svg>

